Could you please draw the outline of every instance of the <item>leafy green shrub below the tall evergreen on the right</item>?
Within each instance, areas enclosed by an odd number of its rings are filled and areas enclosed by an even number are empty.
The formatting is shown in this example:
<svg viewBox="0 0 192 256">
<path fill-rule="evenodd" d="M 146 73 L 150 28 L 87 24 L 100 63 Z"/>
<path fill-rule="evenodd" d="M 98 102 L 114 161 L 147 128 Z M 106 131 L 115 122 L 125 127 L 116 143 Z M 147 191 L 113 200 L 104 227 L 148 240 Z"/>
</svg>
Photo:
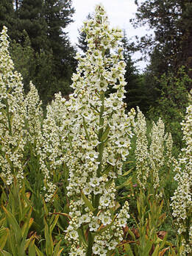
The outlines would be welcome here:
<svg viewBox="0 0 192 256">
<path fill-rule="evenodd" d="M 182 131 L 180 123 L 185 116 L 186 107 L 190 104 L 188 88 L 192 79 L 188 77 L 185 68 L 179 68 L 177 76 L 169 72 L 156 79 L 160 85 L 160 97 L 156 100 L 154 107 L 149 110 L 150 118 L 161 117 L 166 124 L 166 129 L 171 132 L 174 142 L 181 148 Z"/>
</svg>

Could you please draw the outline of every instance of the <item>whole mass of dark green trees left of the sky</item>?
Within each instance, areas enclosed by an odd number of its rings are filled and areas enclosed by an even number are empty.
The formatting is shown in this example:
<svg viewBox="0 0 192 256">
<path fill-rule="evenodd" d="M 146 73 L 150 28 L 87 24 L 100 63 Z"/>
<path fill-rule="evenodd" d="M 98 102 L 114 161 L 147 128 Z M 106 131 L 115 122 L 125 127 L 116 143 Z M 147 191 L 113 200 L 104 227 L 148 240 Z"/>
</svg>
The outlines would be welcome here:
<svg viewBox="0 0 192 256">
<path fill-rule="evenodd" d="M 7 26 L 15 70 L 36 85 L 40 99 L 47 104 L 54 93 L 71 92 L 69 85 L 77 61 L 76 50 L 65 33 L 74 8 L 71 0 L 2 0 L 0 26 Z"/>
</svg>

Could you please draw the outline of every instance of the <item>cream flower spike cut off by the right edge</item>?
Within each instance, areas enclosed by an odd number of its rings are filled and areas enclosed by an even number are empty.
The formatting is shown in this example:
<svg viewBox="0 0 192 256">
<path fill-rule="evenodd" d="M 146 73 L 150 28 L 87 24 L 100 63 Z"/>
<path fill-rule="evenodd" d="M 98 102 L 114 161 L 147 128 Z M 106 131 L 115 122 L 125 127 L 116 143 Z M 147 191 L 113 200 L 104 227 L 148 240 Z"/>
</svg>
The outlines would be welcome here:
<svg viewBox="0 0 192 256">
<path fill-rule="evenodd" d="M 192 252 L 192 105 L 187 108 L 187 115 L 182 121 L 182 132 L 186 146 L 182 149 L 179 160 L 174 163 L 174 179 L 178 182 L 178 187 L 171 197 L 171 206 L 177 220 L 177 232 L 184 238 L 182 255 L 186 255 Z"/>
</svg>

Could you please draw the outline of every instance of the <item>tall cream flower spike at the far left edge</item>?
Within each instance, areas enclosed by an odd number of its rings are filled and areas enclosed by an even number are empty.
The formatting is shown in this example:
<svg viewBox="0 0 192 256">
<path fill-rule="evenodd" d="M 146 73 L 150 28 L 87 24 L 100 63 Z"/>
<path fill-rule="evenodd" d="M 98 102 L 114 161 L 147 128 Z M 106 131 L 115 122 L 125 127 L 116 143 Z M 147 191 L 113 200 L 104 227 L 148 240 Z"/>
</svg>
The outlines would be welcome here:
<svg viewBox="0 0 192 256">
<path fill-rule="evenodd" d="M 24 146 L 26 144 L 24 92 L 21 74 L 14 71 L 8 51 L 7 28 L 0 37 L 0 169 L 10 185 L 13 175 L 24 178 Z"/>
</svg>

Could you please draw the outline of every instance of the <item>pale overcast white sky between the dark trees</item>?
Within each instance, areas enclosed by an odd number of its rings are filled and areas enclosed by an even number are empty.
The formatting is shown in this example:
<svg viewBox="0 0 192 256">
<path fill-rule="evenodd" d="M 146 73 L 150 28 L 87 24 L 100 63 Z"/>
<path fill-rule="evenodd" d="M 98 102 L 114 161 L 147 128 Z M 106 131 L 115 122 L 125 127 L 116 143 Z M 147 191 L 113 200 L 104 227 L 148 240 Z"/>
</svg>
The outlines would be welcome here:
<svg viewBox="0 0 192 256">
<path fill-rule="evenodd" d="M 71 43 L 78 42 L 79 36 L 78 29 L 81 28 L 83 21 L 87 19 L 89 13 L 93 13 L 96 4 L 102 3 L 104 9 L 107 12 L 110 26 L 118 26 L 124 29 L 127 33 L 127 38 L 132 39 L 135 35 L 142 36 L 146 34 L 146 28 L 135 29 L 129 22 L 130 18 L 135 17 L 137 6 L 134 0 L 72 0 L 72 6 L 75 9 L 73 15 L 74 22 L 68 25 L 65 32 L 68 32 L 68 36 L 71 39 Z M 133 60 L 141 57 L 140 53 L 133 55 Z M 140 70 L 146 67 L 144 61 L 137 64 Z"/>
</svg>

